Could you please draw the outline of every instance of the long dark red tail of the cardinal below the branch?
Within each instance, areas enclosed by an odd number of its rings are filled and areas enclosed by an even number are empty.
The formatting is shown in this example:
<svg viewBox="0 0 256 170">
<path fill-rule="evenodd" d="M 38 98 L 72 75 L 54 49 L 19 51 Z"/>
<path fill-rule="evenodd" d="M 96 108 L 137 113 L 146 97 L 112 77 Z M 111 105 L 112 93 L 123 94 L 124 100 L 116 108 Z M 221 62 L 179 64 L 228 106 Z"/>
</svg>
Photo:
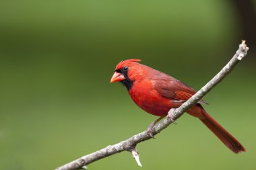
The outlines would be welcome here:
<svg viewBox="0 0 256 170">
<path fill-rule="evenodd" d="M 226 129 L 224 129 L 214 118 L 212 118 L 207 112 L 203 109 L 201 105 L 194 106 L 195 110 L 190 110 L 189 114 L 196 116 L 207 126 L 231 151 L 234 153 L 245 152 L 245 147 L 234 138 Z M 201 113 L 199 114 L 199 109 Z M 197 111 L 196 114 L 193 111 Z M 199 116 L 200 115 L 200 116 Z"/>
</svg>

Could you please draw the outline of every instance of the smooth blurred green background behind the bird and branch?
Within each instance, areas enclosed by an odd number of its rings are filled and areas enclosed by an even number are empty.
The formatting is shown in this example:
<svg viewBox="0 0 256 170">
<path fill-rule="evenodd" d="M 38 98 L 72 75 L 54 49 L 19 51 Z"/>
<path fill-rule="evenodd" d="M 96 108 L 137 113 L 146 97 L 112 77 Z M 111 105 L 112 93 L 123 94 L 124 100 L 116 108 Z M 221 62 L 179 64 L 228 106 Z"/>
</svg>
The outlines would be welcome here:
<svg viewBox="0 0 256 170">
<path fill-rule="evenodd" d="M 256 169 L 256 38 L 243 24 L 254 19 L 255 28 L 256 19 L 243 18 L 235 4 L 0 1 L 0 169 L 55 169 L 146 130 L 156 117 L 139 109 L 125 87 L 110 84 L 120 60 L 140 58 L 199 89 L 242 39 L 249 55 L 204 99 L 247 153 L 233 154 L 184 115 L 137 146 L 142 168 L 124 152 L 88 169 Z"/>
</svg>

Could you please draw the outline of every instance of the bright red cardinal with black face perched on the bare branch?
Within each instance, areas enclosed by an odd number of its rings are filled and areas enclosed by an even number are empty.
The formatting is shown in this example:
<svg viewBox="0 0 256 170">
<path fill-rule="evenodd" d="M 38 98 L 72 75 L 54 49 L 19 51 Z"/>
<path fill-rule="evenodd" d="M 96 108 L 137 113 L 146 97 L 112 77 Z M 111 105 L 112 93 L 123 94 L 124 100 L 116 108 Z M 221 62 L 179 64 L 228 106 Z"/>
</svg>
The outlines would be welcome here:
<svg viewBox="0 0 256 170">
<path fill-rule="evenodd" d="M 179 108 L 196 92 L 170 75 L 139 64 L 139 61 L 141 60 L 129 59 L 119 62 L 110 82 L 121 82 L 139 108 L 149 114 L 160 116 L 148 128 L 148 134 L 153 137 L 152 127 L 167 116 L 170 109 Z M 205 101 L 199 101 L 187 110 L 187 113 L 199 118 L 234 153 L 245 151 L 236 138 L 207 114 L 201 103 Z"/>
</svg>

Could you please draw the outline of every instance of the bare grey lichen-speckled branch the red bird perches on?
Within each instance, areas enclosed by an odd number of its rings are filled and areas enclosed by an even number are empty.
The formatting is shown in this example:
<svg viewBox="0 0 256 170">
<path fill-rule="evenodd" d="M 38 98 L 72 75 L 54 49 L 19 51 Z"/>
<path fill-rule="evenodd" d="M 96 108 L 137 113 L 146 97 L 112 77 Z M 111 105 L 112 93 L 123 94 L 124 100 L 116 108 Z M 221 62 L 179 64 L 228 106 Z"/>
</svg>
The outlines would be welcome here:
<svg viewBox="0 0 256 170">
<path fill-rule="evenodd" d="M 216 86 L 226 75 L 228 75 L 232 69 L 236 66 L 238 62 L 240 62 L 246 55 L 249 48 L 245 44 L 245 41 L 243 40 L 242 43 L 239 45 L 238 50 L 236 51 L 236 54 L 231 58 L 231 60 L 228 62 L 228 64 L 211 80 L 209 81 L 205 86 L 203 86 L 195 95 L 193 95 L 189 100 L 187 100 L 181 107 L 177 109 L 170 110 L 171 118 L 164 118 L 162 122 L 159 124 L 156 124 L 153 128 L 153 134 L 156 135 L 160 133 L 164 128 L 167 128 L 174 120 L 177 120 L 179 117 L 181 117 L 189 108 L 191 108 L 195 103 L 197 103 L 206 93 L 211 91 L 214 86 Z M 123 151 L 129 151 L 132 153 L 133 157 L 136 159 L 138 165 L 141 165 L 139 162 L 139 156 L 137 154 L 137 150 L 135 146 L 143 142 L 145 140 L 149 140 L 151 137 L 148 135 L 147 131 L 141 132 L 139 134 L 135 134 L 134 136 L 131 136 L 131 138 L 128 138 L 127 140 L 123 140 L 117 144 L 106 146 L 105 148 L 102 148 L 99 151 L 96 151 L 94 153 L 91 153 L 89 155 L 85 155 L 84 157 L 81 157 L 79 159 L 76 159 L 75 161 L 72 161 L 70 163 L 67 163 L 66 165 L 63 165 L 55 170 L 75 170 L 75 169 L 86 169 L 86 165 L 93 163 L 94 161 L 98 161 L 99 159 L 102 159 L 104 157 L 108 157 L 110 155 L 114 155 L 115 153 L 120 153 Z"/>
</svg>

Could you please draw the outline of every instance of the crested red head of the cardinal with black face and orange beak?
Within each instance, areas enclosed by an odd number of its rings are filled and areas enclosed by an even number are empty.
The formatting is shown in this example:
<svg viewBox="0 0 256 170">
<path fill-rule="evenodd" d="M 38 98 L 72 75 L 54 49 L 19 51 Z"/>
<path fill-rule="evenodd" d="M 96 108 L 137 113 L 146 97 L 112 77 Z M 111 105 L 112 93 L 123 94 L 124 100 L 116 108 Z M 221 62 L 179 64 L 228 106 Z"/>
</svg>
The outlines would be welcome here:
<svg viewBox="0 0 256 170">
<path fill-rule="evenodd" d="M 138 75 L 139 68 L 139 59 L 129 59 L 119 62 L 115 69 L 115 73 L 110 80 L 110 83 L 121 82 L 127 89 L 131 89 L 135 77 Z"/>
</svg>

